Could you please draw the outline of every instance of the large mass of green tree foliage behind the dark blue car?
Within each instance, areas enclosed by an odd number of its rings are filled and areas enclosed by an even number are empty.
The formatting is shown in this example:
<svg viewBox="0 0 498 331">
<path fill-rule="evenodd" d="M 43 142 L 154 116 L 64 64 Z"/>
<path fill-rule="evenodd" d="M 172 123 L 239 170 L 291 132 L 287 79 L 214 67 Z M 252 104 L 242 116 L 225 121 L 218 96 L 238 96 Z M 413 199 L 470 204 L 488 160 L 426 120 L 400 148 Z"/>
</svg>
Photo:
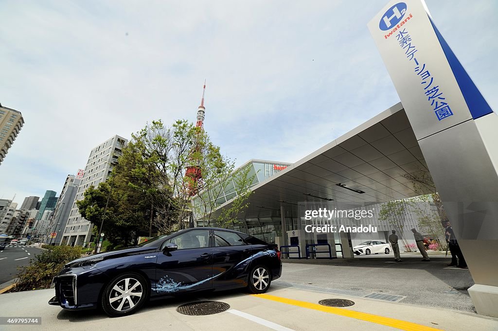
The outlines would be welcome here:
<svg viewBox="0 0 498 331">
<path fill-rule="evenodd" d="M 104 221 L 102 232 L 113 243 L 189 226 L 192 194 L 223 185 L 233 171 L 233 161 L 186 120 L 170 127 L 160 120 L 147 123 L 131 134 L 113 165 L 110 178 L 89 187 L 77 202 L 81 215 L 97 228 Z M 201 179 L 186 176 L 188 167 Z"/>
</svg>

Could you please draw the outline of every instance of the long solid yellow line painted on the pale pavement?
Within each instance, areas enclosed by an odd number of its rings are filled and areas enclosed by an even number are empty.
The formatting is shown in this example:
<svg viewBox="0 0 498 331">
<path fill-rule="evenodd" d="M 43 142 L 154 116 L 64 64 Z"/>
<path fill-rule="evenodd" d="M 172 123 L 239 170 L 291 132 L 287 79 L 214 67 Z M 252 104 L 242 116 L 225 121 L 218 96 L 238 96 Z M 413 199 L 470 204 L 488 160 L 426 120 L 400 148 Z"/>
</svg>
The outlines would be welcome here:
<svg viewBox="0 0 498 331">
<path fill-rule="evenodd" d="M 307 308 L 307 309 L 314 309 L 314 310 L 317 310 L 320 312 L 340 315 L 340 316 L 344 316 L 344 317 L 350 317 L 353 319 L 367 321 L 367 322 L 371 322 L 371 323 L 375 323 L 375 324 L 380 324 L 380 325 L 384 325 L 384 326 L 399 329 L 399 330 L 405 330 L 405 331 L 441 331 L 441 329 L 434 329 L 434 328 L 426 327 L 426 326 L 423 326 L 420 324 L 391 319 L 389 317 L 383 317 L 383 316 L 373 315 L 373 314 L 369 314 L 369 313 L 357 312 L 354 310 L 348 310 L 348 309 L 344 309 L 344 308 L 327 307 L 327 306 L 322 306 L 319 304 L 314 304 L 311 302 L 281 298 L 281 297 L 277 297 L 277 296 L 269 295 L 269 294 L 253 294 L 253 296 L 261 298 L 261 299 L 266 299 L 266 300 L 280 302 L 283 304 L 292 305 L 292 306 L 297 306 L 297 307 L 302 307 L 302 308 Z"/>
</svg>

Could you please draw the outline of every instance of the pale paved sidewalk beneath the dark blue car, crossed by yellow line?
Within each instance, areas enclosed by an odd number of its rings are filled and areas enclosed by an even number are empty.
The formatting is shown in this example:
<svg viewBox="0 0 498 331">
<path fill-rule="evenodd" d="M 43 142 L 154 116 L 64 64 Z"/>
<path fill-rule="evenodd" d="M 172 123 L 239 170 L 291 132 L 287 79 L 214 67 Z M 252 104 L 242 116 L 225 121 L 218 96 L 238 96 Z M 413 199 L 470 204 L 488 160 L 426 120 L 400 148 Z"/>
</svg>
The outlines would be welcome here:
<svg viewBox="0 0 498 331">
<path fill-rule="evenodd" d="M 49 289 L 0 295 L 1 316 L 41 317 L 41 325 L 2 326 L 1 330 L 498 331 L 498 319 L 475 314 L 293 288 L 272 287 L 263 296 L 242 291 L 201 293 L 184 300 L 151 302 L 134 315 L 114 319 L 99 311 L 72 312 L 49 306 L 47 301 L 53 293 Z M 331 297 L 352 300 L 355 305 L 330 309 L 317 305 L 320 300 Z M 202 299 L 225 302 L 231 311 L 209 316 L 176 312 L 181 304 Z"/>
</svg>

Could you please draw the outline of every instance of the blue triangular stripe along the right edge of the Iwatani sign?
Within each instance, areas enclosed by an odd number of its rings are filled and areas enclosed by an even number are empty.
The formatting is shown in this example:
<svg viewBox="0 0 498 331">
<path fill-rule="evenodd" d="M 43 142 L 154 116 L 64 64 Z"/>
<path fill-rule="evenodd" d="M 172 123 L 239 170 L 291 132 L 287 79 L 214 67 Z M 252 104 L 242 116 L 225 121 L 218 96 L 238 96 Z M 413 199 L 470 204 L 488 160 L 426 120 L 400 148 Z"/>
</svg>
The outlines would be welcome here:
<svg viewBox="0 0 498 331">
<path fill-rule="evenodd" d="M 434 25 L 434 22 L 430 17 L 429 20 L 431 21 L 432 27 L 436 32 L 439 43 L 443 47 L 444 54 L 448 59 L 448 63 L 450 64 L 453 75 L 455 76 L 458 86 L 462 91 L 462 95 L 464 96 L 465 102 L 467 103 L 467 107 L 469 107 L 472 118 L 477 119 L 479 117 L 492 113 L 493 110 L 491 109 L 490 105 L 488 105 L 483 95 L 474 84 L 472 79 L 469 77 L 460 61 L 458 61 L 457 57 L 451 50 L 450 46 L 448 46 L 448 43 L 446 42 L 446 40 L 444 40 L 443 36 L 437 29 L 436 25 Z"/>
</svg>

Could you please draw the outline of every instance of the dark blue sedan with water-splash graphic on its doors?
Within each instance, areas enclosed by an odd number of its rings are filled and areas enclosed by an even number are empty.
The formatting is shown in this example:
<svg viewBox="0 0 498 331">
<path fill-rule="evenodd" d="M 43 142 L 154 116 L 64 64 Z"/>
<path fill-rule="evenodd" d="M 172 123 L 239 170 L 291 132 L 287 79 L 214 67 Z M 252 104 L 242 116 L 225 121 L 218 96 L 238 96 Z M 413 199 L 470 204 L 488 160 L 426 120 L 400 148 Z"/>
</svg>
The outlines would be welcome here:
<svg viewBox="0 0 498 331">
<path fill-rule="evenodd" d="M 54 278 L 55 296 L 48 303 L 69 310 L 101 307 L 120 317 L 148 299 L 194 291 L 264 293 L 281 272 L 275 244 L 242 232 L 196 227 L 66 264 Z"/>
</svg>

